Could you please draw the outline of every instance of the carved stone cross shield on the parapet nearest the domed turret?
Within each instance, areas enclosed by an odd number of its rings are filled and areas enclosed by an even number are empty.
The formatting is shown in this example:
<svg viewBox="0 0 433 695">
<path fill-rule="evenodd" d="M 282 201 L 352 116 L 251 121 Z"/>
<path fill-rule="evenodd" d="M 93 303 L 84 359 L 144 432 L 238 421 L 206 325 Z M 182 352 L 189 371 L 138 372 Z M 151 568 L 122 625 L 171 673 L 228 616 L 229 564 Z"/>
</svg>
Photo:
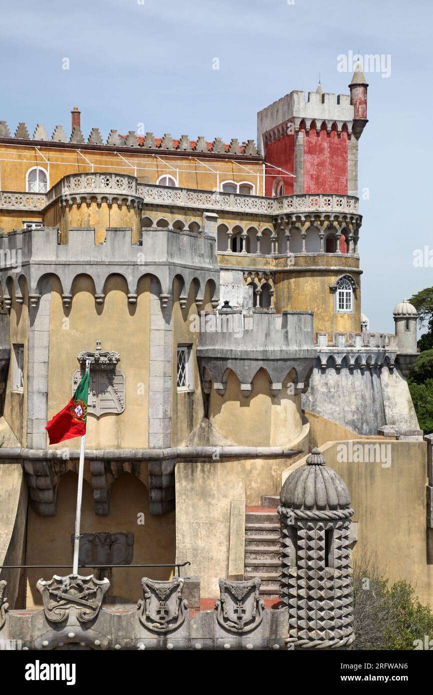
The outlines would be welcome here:
<svg viewBox="0 0 433 695">
<path fill-rule="evenodd" d="M 259 598 L 261 579 L 245 582 L 218 580 L 220 600 L 215 601 L 219 625 L 230 632 L 250 632 L 258 628 L 263 619 L 265 602 Z"/>
</svg>

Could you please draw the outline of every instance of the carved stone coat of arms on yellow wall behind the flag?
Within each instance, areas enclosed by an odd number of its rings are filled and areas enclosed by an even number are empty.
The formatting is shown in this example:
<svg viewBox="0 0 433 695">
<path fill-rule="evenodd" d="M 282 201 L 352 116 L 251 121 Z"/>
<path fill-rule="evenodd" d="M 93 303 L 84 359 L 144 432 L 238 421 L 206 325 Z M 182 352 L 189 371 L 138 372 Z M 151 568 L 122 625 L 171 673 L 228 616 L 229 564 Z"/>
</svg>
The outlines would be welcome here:
<svg viewBox="0 0 433 695">
<path fill-rule="evenodd" d="M 120 415 L 125 409 L 125 377 L 116 369 L 120 354 L 114 350 L 102 352 L 97 341 L 95 352 L 79 352 L 76 356 L 81 369 L 72 375 L 72 394 L 85 373 L 85 363 L 90 360 L 90 387 L 88 413 L 97 416 L 104 413 Z"/>
</svg>

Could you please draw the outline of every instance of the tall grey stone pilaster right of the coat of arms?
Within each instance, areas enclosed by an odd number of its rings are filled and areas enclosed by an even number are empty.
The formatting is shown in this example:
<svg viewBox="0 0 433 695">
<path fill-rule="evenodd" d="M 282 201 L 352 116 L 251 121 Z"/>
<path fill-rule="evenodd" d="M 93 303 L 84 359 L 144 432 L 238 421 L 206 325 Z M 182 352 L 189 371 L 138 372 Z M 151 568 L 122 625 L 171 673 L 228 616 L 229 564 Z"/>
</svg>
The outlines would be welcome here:
<svg viewBox="0 0 433 695">
<path fill-rule="evenodd" d="M 161 306 L 158 281 L 150 293 L 149 448 L 168 447 L 172 429 L 172 295 Z"/>
</svg>

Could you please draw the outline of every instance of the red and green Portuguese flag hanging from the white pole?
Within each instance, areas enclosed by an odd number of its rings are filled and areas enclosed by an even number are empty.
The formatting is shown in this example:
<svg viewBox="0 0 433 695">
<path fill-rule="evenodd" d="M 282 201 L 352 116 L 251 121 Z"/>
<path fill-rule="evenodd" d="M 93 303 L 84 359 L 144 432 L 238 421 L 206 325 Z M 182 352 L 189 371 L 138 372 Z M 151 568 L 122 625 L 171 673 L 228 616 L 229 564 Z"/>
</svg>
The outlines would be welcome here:
<svg viewBox="0 0 433 695">
<path fill-rule="evenodd" d="M 75 436 L 85 434 L 88 393 L 89 370 L 86 370 L 70 402 L 52 420 L 49 420 L 45 427 L 50 444 L 57 444 L 64 439 L 74 439 Z"/>
</svg>

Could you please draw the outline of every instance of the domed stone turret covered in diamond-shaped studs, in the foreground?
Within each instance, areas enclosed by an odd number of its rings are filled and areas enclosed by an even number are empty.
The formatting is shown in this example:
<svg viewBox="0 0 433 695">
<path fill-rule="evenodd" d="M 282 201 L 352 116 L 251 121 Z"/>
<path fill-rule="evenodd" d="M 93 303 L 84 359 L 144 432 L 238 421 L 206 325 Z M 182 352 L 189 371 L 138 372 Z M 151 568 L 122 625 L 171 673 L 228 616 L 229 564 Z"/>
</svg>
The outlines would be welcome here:
<svg viewBox="0 0 433 695">
<path fill-rule="evenodd" d="M 313 449 L 281 489 L 281 600 L 288 643 L 343 648 L 354 640 L 350 569 L 350 493 Z"/>
</svg>

